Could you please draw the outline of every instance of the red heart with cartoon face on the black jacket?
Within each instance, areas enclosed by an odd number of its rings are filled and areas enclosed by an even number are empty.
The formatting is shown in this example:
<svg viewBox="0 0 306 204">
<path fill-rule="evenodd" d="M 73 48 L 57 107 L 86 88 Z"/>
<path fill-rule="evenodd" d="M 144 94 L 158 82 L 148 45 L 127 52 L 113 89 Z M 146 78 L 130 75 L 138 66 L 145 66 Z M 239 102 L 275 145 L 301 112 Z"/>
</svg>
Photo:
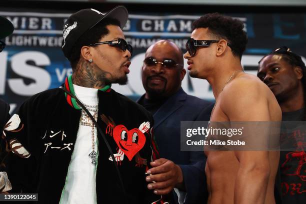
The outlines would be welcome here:
<svg viewBox="0 0 306 204">
<path fill-rule="evenodd" d="M 114 127 L 113 139 L 128 160 L 131 160 L 145 143 L 145 136 L 138 128 L 127 130 L 123 124 Z"/>
</svg>

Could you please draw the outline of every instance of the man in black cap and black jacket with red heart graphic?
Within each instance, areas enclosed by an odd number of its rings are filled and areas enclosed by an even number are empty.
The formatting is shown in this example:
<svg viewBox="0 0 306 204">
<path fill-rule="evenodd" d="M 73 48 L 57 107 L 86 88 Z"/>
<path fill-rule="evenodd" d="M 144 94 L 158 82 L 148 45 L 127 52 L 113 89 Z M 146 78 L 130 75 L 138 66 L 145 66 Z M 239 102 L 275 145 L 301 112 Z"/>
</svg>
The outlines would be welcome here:
<svg viewBox="0 0 306 204">
<path fill-rule="evenodd" d="M 82 9 L 64 23 L 62 51 L 72 75 L 25 101 L 4 129 L 12 192 L 37 192 L 41 203 L 163 201 L 145 181 L 158 157 L 153 119 L 110 88 L 127 81 L 127 17 L 124 6 L 105 14 Z"/>
</svg>

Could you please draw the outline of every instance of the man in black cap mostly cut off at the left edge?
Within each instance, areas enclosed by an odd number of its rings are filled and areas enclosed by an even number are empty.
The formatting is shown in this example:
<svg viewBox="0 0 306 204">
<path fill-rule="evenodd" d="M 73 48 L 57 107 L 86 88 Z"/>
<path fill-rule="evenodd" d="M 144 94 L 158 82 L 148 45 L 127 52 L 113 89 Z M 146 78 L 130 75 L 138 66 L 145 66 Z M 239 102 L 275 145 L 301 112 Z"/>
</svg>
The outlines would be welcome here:
<svg viewBox="0 0 306 204">
<path fill-rule="evenodd" d="M 10 35 L 14 27 L 12 23 L 6 19 L 5 17 L 0 16 L 0 25 L 1 25 L 1 31 L 0 31 L 0 39 Z M 5 43 L 0 40 L 0 52 L 4 49 Z M 9 119 L 9 105 L 0 98 L 0 132 L 2 132 L 2 129 L 4 127 L 4 124 Z M 1 134 L 1 133 L 0 133 Z M 0 139 L 0 192 L 6 192 L 11 189 L 10 182 L 7 180 L 6 172 L 4 171 L 4 165 L 2 165 L 2 160 L 5 157 L 5 142 L 4 140 Z"/>
</svg>

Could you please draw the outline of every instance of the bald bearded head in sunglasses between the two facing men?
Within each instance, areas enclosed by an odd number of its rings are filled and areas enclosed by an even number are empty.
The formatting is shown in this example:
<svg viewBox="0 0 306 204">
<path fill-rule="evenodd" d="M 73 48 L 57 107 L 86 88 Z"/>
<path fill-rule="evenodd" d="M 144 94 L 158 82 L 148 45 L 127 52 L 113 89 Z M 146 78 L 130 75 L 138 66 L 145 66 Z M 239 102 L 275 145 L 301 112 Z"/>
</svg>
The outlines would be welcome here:
<svg viewBox="0 0 306 204">
<path fill-rule="evenodd" d="M 155 63 L 145 62 L 146 59 L 155 60 Z M 145 60 L 141 75 L 146 98 L 169 97 L 180 88 L 186 70 L 183 53 L 174 42 L 165 39 L 155 42 L 147 48 Z M 165 61 L 171 61 L 172 65 Z"/>
</svg>

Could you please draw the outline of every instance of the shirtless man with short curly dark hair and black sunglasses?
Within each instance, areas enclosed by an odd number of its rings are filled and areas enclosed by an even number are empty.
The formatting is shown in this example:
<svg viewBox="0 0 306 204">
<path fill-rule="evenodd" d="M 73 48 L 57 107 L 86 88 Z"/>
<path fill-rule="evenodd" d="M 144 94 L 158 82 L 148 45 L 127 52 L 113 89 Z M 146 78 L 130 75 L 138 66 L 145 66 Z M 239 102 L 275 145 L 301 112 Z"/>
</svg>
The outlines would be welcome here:
<svg viewBox="0 0 306 204">
<path fill-rule="evenodd" d="M 243 24 L 208 13 L 192 24 L 186 43 L 189 75 L 212 86 L 215 107 L 210 121 L 280 121 L 281 110 L 270 89 L 243 72 L 247 42 Z M 206 151 L 208 203 L 275 203 L 278 151 Z"/>
</svg>

